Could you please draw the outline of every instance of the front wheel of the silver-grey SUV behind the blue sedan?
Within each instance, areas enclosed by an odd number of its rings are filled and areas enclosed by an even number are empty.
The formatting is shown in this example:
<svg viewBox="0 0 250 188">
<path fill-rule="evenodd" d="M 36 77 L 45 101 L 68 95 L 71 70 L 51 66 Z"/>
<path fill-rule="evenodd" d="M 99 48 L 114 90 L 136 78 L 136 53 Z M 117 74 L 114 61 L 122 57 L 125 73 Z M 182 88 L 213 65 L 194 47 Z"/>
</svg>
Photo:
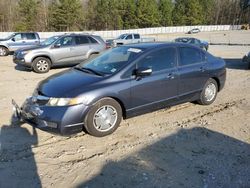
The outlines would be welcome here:
<svg viewBox="0 0 250 188">
<path fill-rule="evenodd" d="M 33 60 L 32 68 L 36 73 L 49 72 L 51 68 L 51 61 L 45 57 L 38 57 Z"/>
</svg>

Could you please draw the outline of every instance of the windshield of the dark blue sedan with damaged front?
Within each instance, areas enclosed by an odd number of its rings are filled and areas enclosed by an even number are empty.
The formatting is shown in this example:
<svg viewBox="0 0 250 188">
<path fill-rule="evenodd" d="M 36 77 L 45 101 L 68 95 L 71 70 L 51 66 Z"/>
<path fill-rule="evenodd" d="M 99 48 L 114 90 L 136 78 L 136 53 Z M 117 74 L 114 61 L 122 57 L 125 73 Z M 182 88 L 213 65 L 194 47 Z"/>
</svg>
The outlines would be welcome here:
<svg viewBox="0 0 250 188">
<path fill-rule="evenodd" d="M 139 48 L 117 47 L 106 51 L 95 59 L 80 64 L 78 67 L 91 69 L 101 74 L 114 74 L 141 53 L 142 49 Z"/>
</svg>

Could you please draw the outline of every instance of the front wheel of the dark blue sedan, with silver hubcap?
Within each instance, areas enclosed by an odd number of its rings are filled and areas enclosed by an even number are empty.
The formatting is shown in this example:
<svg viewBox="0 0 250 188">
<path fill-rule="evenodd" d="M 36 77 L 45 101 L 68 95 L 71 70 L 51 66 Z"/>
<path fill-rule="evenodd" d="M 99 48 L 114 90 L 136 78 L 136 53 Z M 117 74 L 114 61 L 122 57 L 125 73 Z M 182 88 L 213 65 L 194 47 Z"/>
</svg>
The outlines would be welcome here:
<svg viewBox="0 0 250 188">
<path fill-rule="evenodd" d="M 113 110 L 113 111 L 112 111 Z M 113 114 L 108 114 L 108 111 Z M 106 114 L 103 114 L 106 112 Z M 111 118 L 114 118 L 112 120 Z M 96 137 L 103 137 L 113 133 L 122 120 L 122 109 L 120 104 L 111 98 L 103 98 L 96 102 L 89 110 L 84 120 L 84 127 L 86 131 Z M 101 123 L 101 122 L 104 122 Z M 99 126 L 102 124 L 101 126 Z M 105 126 L 107 126 L 105 128 Z"/>
</svg>

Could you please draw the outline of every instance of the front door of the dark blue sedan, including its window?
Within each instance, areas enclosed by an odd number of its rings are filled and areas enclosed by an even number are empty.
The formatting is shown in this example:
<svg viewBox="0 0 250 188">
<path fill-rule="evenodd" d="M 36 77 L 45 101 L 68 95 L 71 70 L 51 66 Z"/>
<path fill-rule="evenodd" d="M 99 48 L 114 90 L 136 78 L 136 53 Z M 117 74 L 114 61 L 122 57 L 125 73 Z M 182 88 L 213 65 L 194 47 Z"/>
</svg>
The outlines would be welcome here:
<svg viewBox="0 0 250 188">
<path fill-rule="evenodd" d="M 152 74 L 131 81 L 131 106 L 135 111 L 165 105 L 178 96 L 176 48 L 165 47 L 150 52 L 136 64 L 137 68 L 151 68 Z"/>
</svg>

